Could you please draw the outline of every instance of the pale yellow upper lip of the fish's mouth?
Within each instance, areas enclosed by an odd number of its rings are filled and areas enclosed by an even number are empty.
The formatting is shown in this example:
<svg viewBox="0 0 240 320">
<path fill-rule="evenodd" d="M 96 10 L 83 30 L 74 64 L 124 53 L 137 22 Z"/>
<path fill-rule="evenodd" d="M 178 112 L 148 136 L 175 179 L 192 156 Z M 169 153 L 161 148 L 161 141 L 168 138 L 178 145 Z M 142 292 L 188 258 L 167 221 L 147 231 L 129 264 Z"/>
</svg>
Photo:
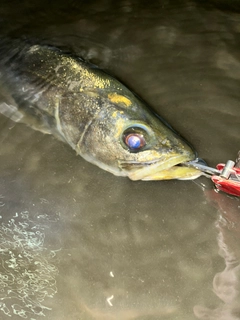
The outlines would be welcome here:
<svg viewBox="0 0 240 320">
<path fill-rule="evenodd" d="M 156 160 L 145 161 L 145 162 L 134 162 L 134 161 L 123 161 L 121 164 L 133 165 L 133 171 L 129 170 L 128 177 L 131 180 L 141 180 L 144 177 L 151 176 L 151 171 L 159 169 L 159 171 L 168 170 L 178 164 L 189 161 L 192 158 L 188 155 L 169 155 L 162 156 Z M 141 168 L 137 168 L 142 166 Z M 162 167 L 162 168 L 161 168 Z"/>
</svg>

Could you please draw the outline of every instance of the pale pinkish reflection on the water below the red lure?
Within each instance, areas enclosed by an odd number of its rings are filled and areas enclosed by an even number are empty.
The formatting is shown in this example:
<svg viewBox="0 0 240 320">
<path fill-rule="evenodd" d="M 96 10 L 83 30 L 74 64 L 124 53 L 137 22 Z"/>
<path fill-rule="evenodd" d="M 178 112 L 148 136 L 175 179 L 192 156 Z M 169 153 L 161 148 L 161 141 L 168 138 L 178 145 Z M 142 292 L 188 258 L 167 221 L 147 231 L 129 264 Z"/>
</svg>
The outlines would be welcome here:
<svg viewBox="0 0 240 320">
<path fill-rule="evenodd" d="M 206 194 L 219 208 L 217 241 L 226 266 L 213 279 L 213 292 L 222 303 L 215 309 L 195 306 L 194 313 L 199 319 L 237 320 L 240 318 L 240 201 L 214 191 Z"/>
</svg>

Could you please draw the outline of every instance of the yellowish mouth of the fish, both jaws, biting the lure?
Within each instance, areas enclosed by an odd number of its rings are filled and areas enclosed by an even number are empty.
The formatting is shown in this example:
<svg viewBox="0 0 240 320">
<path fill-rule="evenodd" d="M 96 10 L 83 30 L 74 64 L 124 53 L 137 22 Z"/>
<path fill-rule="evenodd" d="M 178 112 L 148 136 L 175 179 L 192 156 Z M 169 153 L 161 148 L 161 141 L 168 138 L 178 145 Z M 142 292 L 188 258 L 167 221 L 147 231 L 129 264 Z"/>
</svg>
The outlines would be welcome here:
<svg viewBox="0 0 240 320">
<path fill-rule="evenodd" d="M 192 156 L 168 155 L 149 162 L 121 162 L 121 168 L 128 171 L 131 180 L 193 180 L 202 173 L 200 170 L 187 167 L 184 163 L 192 160 Z"/>
</svg>

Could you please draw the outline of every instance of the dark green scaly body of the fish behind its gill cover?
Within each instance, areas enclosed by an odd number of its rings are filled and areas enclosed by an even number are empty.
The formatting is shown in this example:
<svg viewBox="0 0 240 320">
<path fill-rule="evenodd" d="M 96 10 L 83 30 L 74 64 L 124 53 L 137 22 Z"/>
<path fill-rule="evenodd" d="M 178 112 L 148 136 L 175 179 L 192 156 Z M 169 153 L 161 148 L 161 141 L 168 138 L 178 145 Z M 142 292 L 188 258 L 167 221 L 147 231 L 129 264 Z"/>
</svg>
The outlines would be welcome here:
<svg viewBox="0 0 240 320">
<path fill-rule="evenodd" d="M 101 107 L 99 90 L 110 87 L 104 72 L 51 46 L 2 41 L 0 67 L 1 86 L 16 102 L 25 122 L 57 136 L 60 132 L 64 139 L 69 136 L 72 147 Z"/>
</svg>

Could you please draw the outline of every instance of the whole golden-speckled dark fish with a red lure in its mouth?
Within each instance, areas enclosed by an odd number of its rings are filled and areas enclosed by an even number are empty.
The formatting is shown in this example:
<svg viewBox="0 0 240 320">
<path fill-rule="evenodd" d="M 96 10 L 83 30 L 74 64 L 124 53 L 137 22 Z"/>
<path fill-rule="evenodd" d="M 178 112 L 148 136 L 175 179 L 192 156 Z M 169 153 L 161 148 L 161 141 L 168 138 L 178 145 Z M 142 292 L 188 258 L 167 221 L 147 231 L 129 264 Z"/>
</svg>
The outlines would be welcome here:
<svg viewBox="0 0 240 320">
<path fill-rule="evenodd" d="M 0 42 L 0 113 L 54 134 L 85 160 L 131 180 L 195 179 L 196 153 L 115 77 L 37 41 Z"/>
</svg>

